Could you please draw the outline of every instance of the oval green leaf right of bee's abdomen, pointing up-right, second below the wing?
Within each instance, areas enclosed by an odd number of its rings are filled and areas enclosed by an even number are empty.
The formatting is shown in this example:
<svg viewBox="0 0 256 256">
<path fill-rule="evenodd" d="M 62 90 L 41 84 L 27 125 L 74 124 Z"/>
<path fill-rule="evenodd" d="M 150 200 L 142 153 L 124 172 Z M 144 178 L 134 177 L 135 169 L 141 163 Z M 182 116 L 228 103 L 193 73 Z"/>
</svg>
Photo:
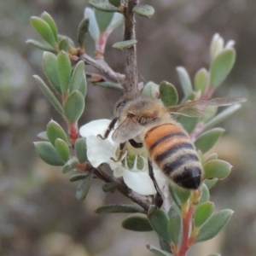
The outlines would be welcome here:
<svg viewBox="0 0 256 256">
<path fill-rule="evenodd" d="M 223 128 L 213 128 L 210 131 L 205 131 L 195 140 L 195 148 L 200 150 L 202 154 L 206 153 L 218 142 L 223 133 Z"/>
</svg>

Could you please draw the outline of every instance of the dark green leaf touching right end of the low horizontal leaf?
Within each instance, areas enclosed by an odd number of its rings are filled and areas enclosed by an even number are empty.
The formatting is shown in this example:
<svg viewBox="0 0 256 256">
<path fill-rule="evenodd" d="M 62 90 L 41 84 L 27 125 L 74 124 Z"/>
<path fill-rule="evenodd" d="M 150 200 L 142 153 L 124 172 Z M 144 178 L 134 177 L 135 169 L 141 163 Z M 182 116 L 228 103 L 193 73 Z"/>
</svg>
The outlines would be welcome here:
<svg viewBox="0 0 256 256">
<path fill-rule="evenodd" d="M 162 209 L 157 209 L 150 217 L 149 223 L 151 224 L 154 231 L 166 241 L 170 242 L 168 235 L 167 225 L 169 218 Z"/>
</svg>

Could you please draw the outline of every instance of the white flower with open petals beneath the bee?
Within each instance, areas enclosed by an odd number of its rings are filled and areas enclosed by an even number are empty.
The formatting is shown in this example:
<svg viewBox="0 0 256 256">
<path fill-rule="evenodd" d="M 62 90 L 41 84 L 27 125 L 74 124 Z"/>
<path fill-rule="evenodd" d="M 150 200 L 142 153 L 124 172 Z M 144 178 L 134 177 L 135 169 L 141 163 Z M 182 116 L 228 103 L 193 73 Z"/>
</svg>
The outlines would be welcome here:
<svg viewBox="0 0 256 256">
<path fill-rule="evenodd" d="M 122 160 L 125 159 L 125 164 L 121 161 L 113 161 L 118 157 L 117 151 L 119 148 L 119 144 L 114 143 L 111 138 L 113 131 L 110 132 L 108 139 L 103 140 L 101 137 L 97 137 L 98 134 L 104 135 L 110 122 L 111 120 L 108 119 L 94 120 L 83 125 L 79 130 L 80 135 L 86 137 L 87 157 L 90 164 L 97 167 L 102 163 L 108 163 L 113 170 L 113 176 L 123 177 L 125 184 L 130 189 L 140 195 L 154 195 L 156 191 L 154 183 L 148 175 L 148 160 L 142 155 L 139 156 L 143 160 L 143 169 L 139 170 L 137 167 L 138 157 L 136 156 L 133 167 L 129 169 L 126 159 L 129 152 L 126 152 L 122 158 Z M 160 189 L 162 189 L 166 183 L 166 178 L 156 166 L 154 166 L 154 177 Z"/>
</svg>

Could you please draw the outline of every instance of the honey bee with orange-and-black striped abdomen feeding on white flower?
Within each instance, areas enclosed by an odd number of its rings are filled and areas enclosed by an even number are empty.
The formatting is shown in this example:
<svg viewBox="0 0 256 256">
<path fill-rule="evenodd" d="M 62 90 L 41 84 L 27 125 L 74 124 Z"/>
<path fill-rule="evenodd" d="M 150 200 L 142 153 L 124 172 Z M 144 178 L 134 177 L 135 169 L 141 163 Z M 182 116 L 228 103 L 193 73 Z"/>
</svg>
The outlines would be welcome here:
<svg viewBox="0 0 256 256">
<path fill-rule="evenodd" d="M 157 192 L 159 188 L 154 180 L 152 161 L 178 186 L 184 189 L 198 189 L 203 177 L 201 162 L 188 133 L 172 118 L 172 113 L 198 117 L 203 112 L 200 108 L 228 106 L 245 101 L 244 98 L 238 97 L 213 98 L 166 108 L 154 98 L 121 100 L 115 107 L 116 118 L 112 120 L 102 138 L 108 137 L 117 124 L 112 139 L 120 144 L 121 153 L 118 160 L 121 159 L 125 143 L 131 143 L 134 148 L 144 145 L 149 156 L 149 175 Z"/>
</svg>

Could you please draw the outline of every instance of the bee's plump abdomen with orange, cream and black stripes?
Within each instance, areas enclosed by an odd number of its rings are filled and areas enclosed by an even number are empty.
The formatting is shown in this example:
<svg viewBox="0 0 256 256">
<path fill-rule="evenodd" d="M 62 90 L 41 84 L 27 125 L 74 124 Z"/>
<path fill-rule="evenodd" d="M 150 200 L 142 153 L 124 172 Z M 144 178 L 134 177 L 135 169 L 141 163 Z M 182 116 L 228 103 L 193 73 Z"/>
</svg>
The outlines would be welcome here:
<svg viewBox="0 0 256 256">
<path fill-rule="evenodd" d="M 186 189 L 201 183 L 201 163 L 183 129 L 175 124 L 154 126 L 145 134 L 148 152 L 167 177 Z"/>
</svg>

